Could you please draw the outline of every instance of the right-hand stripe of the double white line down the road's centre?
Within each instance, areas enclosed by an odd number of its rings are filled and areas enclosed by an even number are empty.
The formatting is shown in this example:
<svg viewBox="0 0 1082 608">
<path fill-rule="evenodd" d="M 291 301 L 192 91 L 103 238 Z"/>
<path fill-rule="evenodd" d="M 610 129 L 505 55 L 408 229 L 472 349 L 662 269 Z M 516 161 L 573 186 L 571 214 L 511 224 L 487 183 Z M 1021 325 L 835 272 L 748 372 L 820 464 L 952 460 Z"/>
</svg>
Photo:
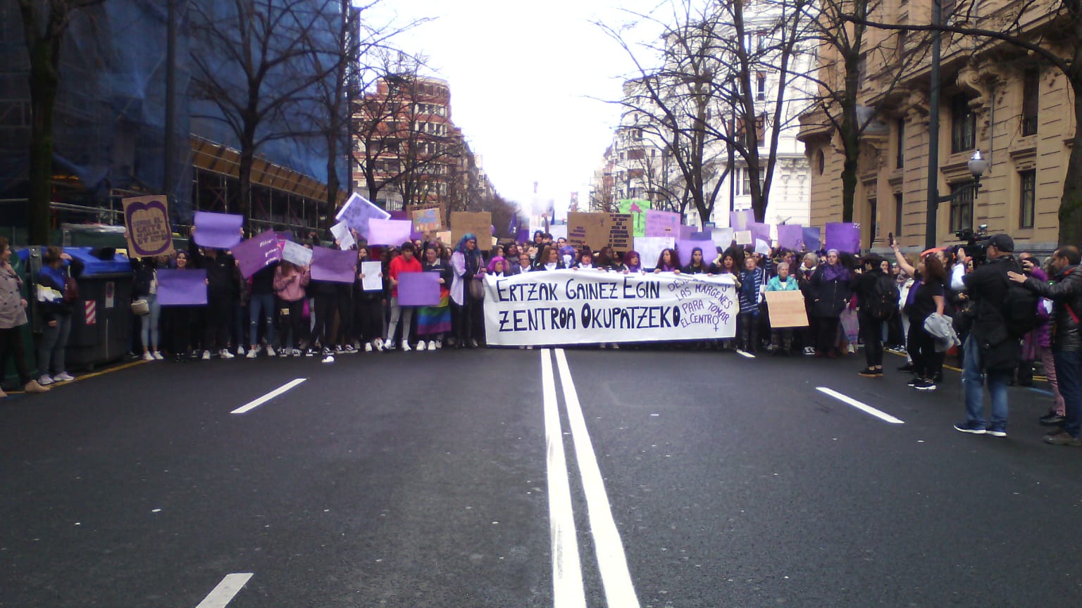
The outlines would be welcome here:
<svg viewBox="0 0 1082 608">
<path fill-rule="evenodd" d="M 567 418 L 571 424 L 571 437 L 575 441 L 575 458 L 579 463 L 579 474 L 582 476 L 582 489 L 586 494 L 586 512 L 590 516 L 590 531 L 594 537 L 594 547 L 597 552 L 597 566 L 602 573 L 602 584 L 605 586 L 606 604 L 610 608 L 638 608 L 635 596 L 635 585 L 631 581 L 628 569 L 628 557 L 624 554 L 620 532 L 612 519 L 612 507 L 608 494 L 605 493 L 605 480 L 602 478 L 597 457 L 586 431 L 586 421 L 582 415 L 582 406 L 575 389 L 571 370 L 567 366 L 567 357 L 563 348 L 556 349 L 556 367 L 559 368 L 559 382 L 564 387 L 564 402 L 567 406 Z"/>
</svg>

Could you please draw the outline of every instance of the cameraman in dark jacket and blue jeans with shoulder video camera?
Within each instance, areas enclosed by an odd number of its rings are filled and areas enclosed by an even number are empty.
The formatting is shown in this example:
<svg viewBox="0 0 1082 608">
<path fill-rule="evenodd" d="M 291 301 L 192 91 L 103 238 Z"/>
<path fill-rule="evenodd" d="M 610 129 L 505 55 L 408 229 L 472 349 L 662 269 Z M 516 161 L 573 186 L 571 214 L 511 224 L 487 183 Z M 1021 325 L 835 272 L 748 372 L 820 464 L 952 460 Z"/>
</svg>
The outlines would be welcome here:
<svg viewBox="0 0 1082 608">
<path fill-rule="evenodd" d="M 951 289 L 968 293 L 975 315 L 963 347 L 966 421 L 954 425 L 962 433 L 1007 436 L 1007 383 L 1021 359 L 1021 343 L 1007 332 L 1002 312 L 1010 285 L 1007 273 L 1021 272 L 1013 253 L 1014 239 L 1007 235 L 992 235 L 986 252 L 987 263 L 969 274 L 965 274 L 968 257 L 954 266 Z M 985 381 L 992 398 L 991 420 L 985 418 Z"/>
</svg>

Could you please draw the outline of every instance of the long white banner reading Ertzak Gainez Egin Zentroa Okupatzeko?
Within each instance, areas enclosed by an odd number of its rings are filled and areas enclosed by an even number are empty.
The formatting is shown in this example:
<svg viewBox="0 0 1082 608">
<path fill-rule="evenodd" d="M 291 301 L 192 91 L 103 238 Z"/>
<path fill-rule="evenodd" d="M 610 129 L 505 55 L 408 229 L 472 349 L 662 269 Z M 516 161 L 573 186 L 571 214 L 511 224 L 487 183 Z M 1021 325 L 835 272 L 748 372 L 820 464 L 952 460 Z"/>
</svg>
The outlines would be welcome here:
<svg viewBox="0 0 1082 608">
<path fill-rule="evenodd" d="M 551 270 L 485 277 L 485 339 L 501 346 L 734 338 L 730 275 Z"/>
</svg>

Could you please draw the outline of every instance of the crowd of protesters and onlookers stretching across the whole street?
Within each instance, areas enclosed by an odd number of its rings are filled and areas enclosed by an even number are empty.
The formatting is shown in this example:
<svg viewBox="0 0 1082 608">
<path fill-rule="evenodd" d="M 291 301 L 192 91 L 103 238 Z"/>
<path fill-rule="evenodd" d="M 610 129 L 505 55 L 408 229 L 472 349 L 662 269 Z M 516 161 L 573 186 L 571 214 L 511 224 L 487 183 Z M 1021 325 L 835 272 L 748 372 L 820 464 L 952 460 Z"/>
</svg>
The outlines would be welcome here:
<svg viewBox="0 0 1082 608">
<path fill-rule="evenodd" d="M 307 244 L 318 244 L 316 237 L 308 235 Z M 491 250 L 483 250 L 472 234 L 453 246 L 419 240 L 370 248 L 359 239 L 352 248 L 358 262 L 353 283 L 315 280 L 309 268 L 288 261 L 245 279 L 228 251 L 200 249 L 193 242 L 171 257 L 132 261 L 133 298 L 145 302 L 137 310 L 133 352 L 148 361 L 166 358 L 164 352 L 177 361 L 318 356 L 329 364 L 335 356 L 359 351 L 475 348 L 485 344 L 481 279 L 487 275 L 562 268 L 730 275 L 739 296 L 736 336 L 682 343 L 686 347 L 831 359 L 862 348 L 865 366 L 857 373 L 872 379 L 884 375 L 884 351 L 893 351 L 906 356 L 899 370 L 911 373 L 909 385 L 922 392 L 937 388 L 945 354 L 956 348 L 967 420 L 955 428 L 995 437 L 1006 435 L 1006 386 L 1031 384 L 1033 366 L 1040 362 L 1053 393 L 1050 412 L 1041 422 L 1056 427 L 1046 440 L 1079 445 L 1078 250 L 1060 248 L 1042 264 L 1028 253 L 1015 256 L 1006 235 L 992 236 L 980 251 L 941 247 L 919 255 L 903 254 L 900 243 L 890 241 L 893 260 L 833 249 L 818 253 L 774 249 L 763 254 L 736 244 L 723 249 L 705 243 L 690 251 L 665 249 L 656 261 L 644 261 L 635 251 L 621 254 L 605 247 L 595 252 L 541 232 L 529 242 L 497 244 Z M 10 247 L 0 240 L 0 366 L 13 357 L 27 392 L 48 391 L 49 384 L 71 379 L 64 369 L 64 344 L 70 330 L 70 279 L 78 277 L 81 264 L 58 248 L 45 252 L 36 278 L 44 333 L 38 348 L 41 376 L 35 380 L 26 371 L 22 342 L 15 339 L 15 328 L 26 322 L 26 303 L 10 256 Z M 361 272 L 361 263 L 373 261 L 380 262 L 382 288 L 366 290 L 365 279 L 371 277 Z M 208 304 L 161 307 L 156 276 L 161 267 L 206 269 Z M 399 304 L 398 282 L 407 273 L 439 275 L 437 305 Z M 1004 303 L 1016 298 L 1008 287 L 1012 281 L 1035 294 L 1034 322 L 1024 334 L 1012 333 L 1004 318 Z M 771 328 L 764 296 L 768 291 L 802 292 L 808 325 Z M 990 417 L 982 410 L 985 384 L 991 396 Z"/>
</svg>

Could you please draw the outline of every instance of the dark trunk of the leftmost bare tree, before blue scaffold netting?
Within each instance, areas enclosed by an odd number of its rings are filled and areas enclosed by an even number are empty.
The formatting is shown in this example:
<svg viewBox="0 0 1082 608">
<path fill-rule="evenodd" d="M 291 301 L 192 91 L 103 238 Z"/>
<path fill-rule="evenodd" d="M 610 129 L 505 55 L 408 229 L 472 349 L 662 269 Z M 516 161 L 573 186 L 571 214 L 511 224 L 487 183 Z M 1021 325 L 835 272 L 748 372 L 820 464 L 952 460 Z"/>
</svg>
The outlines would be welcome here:
<svg viewBox="0 0 1082 608">
<path fill-rule="evenodd" d="M 53 179 L 53 121 L 61 82 L 61 48 L 75 15 L 105 0 L 18 0 L 30 57 L 30 244 L 49 242 L 49 202 Z"/>
</svg>

